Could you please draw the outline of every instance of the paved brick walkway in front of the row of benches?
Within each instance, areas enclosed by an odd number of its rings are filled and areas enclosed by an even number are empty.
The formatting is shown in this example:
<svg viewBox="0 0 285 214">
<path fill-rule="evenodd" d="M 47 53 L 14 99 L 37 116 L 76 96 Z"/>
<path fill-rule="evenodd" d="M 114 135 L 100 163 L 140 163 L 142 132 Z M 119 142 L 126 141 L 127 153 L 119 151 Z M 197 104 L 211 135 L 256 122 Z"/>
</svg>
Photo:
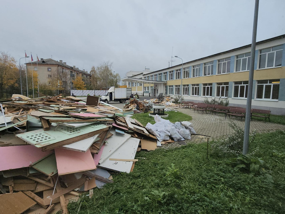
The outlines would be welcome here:
<svg viewBox="0 0 285 214">
<path fill-rule="evenodd" d="M 188 108 L 178 108 L 175 109 L 184 114 L 190 115 L 193 119 L 190 121 L 194 125 L 194 129 L 197 134 L 207 135 L 209 137 L 209 141 L 222 138 L 223 136 L 232 132 L 232 128 L 229 127 L 228 121 L 233 120 L 237 125 L 244 128 L 245 122 L 244 119 L 240 121 L 239 119 L 225 119 L 223 114 L 211 114 L 211 113 L 204 113 L 202 114 L 201 111 L 197 112 L 194 110 L 189 110 Z M 254 129 L 257 130 L 258 133 L 267 133 L 273 132 L 276 130 L 285 130 L 285 125 L 280 125 L 276 123 L 270 122 L 263 122 L 252 120 L 250 122 L 250 131 L 252 132 Z M 192 135 L 191 140 L 186 140 L 186 143 L 203 143 L 207 141 L 206 136 L 200 135 Z M 161 148 L 169 149 L 175 147 L 181 147 L 182 145 L 178 144 L 177 142 L 171 144 L 164 144 Z"/>
</svg>

